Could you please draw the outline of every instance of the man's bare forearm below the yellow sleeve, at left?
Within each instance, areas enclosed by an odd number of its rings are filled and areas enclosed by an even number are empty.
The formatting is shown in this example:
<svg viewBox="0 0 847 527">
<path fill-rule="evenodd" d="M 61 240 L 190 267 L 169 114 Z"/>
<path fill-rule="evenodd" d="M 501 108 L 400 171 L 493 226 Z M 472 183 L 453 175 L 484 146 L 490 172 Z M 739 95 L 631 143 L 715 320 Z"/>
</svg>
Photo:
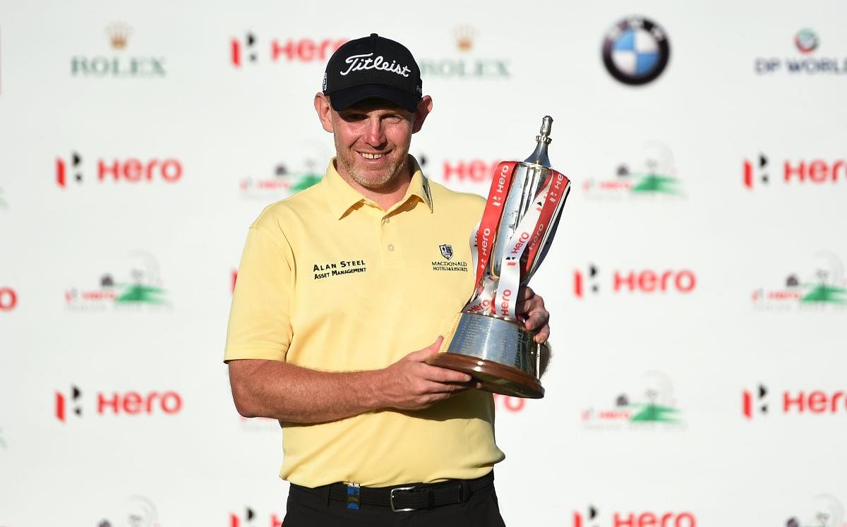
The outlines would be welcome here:
<svg viewBox="0 0 847 527">
<path fill-rule="evenodd" d="M 230 362 L 235 408 L 291 423 L 345 419 L 380 408 L 380 370 L 324 372 L 274 360 Z"/>
</svg>

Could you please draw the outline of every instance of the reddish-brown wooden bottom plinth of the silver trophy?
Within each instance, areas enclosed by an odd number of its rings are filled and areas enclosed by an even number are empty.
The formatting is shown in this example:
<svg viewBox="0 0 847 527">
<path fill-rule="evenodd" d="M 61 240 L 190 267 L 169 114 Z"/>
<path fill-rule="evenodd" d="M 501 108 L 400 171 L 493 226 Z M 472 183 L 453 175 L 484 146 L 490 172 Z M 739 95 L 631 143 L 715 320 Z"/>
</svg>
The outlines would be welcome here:
<svg viewBox="0 0 847 527">
<path fill-rule="evenodd" d="M 492 360 L 460 353 L 439 353 L 430 358 L 427 363 L 469 374 L 474 380 L 482 383 L 481 389 L 484 391 L 528 399 L 544 397 L 544 387 L 538 379 L 519 369 L 495 363 Z"/>
</svg>

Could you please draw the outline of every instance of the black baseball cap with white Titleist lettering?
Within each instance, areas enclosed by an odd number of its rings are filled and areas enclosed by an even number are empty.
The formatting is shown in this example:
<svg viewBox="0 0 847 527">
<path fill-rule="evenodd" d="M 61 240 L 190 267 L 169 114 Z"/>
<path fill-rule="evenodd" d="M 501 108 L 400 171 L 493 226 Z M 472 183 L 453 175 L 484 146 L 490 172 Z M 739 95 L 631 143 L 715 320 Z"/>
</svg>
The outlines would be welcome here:
<svg viewBox="0 0 847 527">
<path fill-rule="evenodd" d="M 423 88 L 412 53 L 400 42 L 371 33 L 339 47 L 324 71 L 324 95 L 335 111 L 369 98 L 388 99 L 410 112 Z"/>
</svg>

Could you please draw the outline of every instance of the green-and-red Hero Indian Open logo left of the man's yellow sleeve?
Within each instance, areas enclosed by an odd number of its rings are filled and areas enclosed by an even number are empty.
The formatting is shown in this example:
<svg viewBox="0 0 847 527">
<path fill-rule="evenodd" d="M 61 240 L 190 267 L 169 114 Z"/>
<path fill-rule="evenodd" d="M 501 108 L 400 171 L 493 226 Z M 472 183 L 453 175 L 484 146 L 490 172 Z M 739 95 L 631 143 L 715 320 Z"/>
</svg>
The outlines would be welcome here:
<svg viewBox="0 0 847 527">
<path fill-rule="evenodd" d="M 75 287 L 64 293 L 67 308 L 72 310 L 104 310 L 106 308 L 167 307 L 158 262 L 147 252 L 132 252 L 118 280 L 102 275 L 95 287 Z"/>
</svg>

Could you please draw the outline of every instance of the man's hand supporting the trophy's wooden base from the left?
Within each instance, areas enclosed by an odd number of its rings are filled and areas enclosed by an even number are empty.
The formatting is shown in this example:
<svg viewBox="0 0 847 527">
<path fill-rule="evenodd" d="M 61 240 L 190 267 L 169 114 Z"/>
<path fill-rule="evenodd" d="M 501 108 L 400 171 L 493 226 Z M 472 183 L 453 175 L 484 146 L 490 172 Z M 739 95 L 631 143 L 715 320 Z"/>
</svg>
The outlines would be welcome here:
<svg viewBox="0 0 847 527">
<path fill-rule="evenodd" d="M 479 387 L 468 374 L 426 363 L 438 354 L 443 340 L 439 336 L 429 347 L 411 352 L 380 371 L 380 380 L 374 388 L 385 408 L 420 410 L 468 388 Z"/>
</svg>

